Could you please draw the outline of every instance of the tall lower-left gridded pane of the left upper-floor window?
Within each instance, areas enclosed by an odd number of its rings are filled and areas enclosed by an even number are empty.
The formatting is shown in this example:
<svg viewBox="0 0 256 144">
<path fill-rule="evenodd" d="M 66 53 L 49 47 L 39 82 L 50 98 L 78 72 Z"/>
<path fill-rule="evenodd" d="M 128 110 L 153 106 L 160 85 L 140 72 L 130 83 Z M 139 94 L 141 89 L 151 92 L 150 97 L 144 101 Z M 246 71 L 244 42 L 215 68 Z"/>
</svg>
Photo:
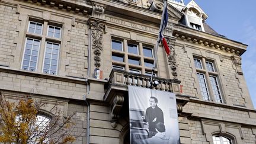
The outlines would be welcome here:
<svg viewBox="0 0 256 144">
<path fill-rule="evenodd" d="M 39 45 L 40 40 L 27 39 L 25 44 L 22 69 L 27 71 L 36 71 L 37 57 L 39 55 Z"/>
</svg>

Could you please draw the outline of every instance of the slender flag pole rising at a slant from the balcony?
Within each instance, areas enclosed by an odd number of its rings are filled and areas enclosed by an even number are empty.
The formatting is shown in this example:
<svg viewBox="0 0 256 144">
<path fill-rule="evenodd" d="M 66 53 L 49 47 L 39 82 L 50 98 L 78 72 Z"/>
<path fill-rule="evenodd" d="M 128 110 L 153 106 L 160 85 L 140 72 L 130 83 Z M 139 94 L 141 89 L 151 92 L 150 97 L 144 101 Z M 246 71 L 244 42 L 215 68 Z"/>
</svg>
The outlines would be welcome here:
<svg viewBox="0 0 256 144">
<path fill-rule="evenodd" d="M 163 20 L 164 12 L 165 12 L 164 8 L 167 8 L 166 2 L 167 2 L 167 0 L 164 0 L 164 7 L 163 7 L 163 11 L 162 11 L 162 18 L 161 18 L 161 25 L 159 27 L 158 40 L 156 41 L 155 58 L 154 58 L 153 68 L 152 68 L 152 73 L 151 73 L 151 87 L 152 87 L 152 82 L 153 82 L 153 74 L 155 73 L 156 60 L 157 60 L 157 57 L 158 57 L 157 53 L 158 53 L 158 47 L 159 47 L 159 43 L 160 43 L 160 32 L 161 32 L 161 29 L 162 29 L 162 27 L 161 27 L 162 26 L 162 20 Z"/>
</svg>

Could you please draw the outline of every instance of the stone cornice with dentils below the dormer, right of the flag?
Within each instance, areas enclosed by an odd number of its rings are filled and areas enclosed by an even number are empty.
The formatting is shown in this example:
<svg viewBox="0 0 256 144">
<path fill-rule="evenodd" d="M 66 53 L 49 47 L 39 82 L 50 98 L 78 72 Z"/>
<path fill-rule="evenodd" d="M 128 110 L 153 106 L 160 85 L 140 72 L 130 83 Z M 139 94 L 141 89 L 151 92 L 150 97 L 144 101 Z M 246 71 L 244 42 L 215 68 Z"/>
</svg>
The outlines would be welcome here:
<svg viewBox="0 0 256 144">
<path fill-rule="evenodd" d="M 203 31 L 187 28 L 182 25 L 174 27 L 173 36 L 191 43 L 203 44 L 210 49 L 222 50 L 233 55 L 241 56 L 247 49 L 247 45 L 226 39 L 225 37 L 215 36 L 204 33 Z"/>
</svg>

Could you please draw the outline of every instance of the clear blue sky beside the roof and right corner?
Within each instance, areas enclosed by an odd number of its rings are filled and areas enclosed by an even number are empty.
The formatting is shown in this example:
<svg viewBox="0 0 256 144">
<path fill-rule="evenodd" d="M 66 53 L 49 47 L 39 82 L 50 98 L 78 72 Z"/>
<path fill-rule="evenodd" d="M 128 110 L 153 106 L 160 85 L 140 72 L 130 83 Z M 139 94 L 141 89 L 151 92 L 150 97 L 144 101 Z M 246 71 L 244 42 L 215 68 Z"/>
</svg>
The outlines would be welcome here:
<svg viewBox="0 0 256 144">
<path fill-rule="evenodd" d="M 176 0 L 178 1 L 178 0 Z M 247 44 L 242 71 L 256 108 L 256 12 L 255 0 L 194 0 L 208 15 L 206 23 L 228 39 Z M 185 5 L 190 0 L 184 0 Z"/>
</svg>

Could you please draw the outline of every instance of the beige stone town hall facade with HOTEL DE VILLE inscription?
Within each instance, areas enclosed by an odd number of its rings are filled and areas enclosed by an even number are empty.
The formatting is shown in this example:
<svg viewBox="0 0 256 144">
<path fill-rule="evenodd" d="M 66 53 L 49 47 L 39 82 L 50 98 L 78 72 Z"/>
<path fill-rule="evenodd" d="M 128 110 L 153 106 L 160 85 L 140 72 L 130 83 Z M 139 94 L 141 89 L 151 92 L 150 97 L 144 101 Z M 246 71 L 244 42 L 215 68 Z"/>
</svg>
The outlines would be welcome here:
<svg viewBox="0 0 256 144">
<path fill-rule="evenodd" d="M 256 143 L 241 69 L 247 45 L 217 34 L 193 0 L 168 0 L 152 87 L 177 96 L 181 143 Z M 128 143 L 127 85 L 150 88 L 163 1 L 0 0 L 0 89 L 75 113 L 75 143 Z M 95 78 L 95 71 L 102 72 Z"/>
</svg>

